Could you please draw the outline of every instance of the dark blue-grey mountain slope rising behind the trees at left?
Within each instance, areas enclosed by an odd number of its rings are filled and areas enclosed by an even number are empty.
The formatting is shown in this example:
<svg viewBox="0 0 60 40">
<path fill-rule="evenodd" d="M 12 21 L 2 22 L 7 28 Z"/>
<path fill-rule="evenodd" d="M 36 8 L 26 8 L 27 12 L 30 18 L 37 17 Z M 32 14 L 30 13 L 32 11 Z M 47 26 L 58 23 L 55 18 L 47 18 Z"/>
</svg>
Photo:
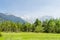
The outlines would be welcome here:
<svg viewBox="0 0 60 40">
<path fill-rule="evenodd" d="M 4 19 L 4 20 L 13 21 L 13 22 L 25 23 L 25 21 L 22 18 L 16 17 L 14 15 L 6 15 L 6 14 L 3 14 L 3 13 L 0 13 L 0 18 Z"/>
</svg>

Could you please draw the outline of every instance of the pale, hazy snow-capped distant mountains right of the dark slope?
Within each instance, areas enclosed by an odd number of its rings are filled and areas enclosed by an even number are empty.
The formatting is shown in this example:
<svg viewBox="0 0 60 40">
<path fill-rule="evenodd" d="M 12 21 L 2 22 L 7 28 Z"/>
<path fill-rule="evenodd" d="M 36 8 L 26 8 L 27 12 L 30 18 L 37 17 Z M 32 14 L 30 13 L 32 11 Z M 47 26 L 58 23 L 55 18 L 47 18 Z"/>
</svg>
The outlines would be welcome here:
<svg viewBox="0 0 60 40">
<path fill-rule="evenodd" d="M 42 17 L 23 16 L 21 18 L 24 19 L 27 22 L 34 23 L 37 18 L 41 21 L 45 21 L 46 19 L 50 20 L 53 17 L 52 16 L 42 16 Z"/>
</svg>

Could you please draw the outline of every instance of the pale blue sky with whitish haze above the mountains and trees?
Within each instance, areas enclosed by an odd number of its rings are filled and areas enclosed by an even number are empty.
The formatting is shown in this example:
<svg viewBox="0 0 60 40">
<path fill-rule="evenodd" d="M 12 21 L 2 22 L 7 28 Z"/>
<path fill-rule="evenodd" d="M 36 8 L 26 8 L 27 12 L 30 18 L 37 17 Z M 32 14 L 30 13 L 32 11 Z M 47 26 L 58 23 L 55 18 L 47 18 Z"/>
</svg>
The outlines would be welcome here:
<svg viewBox="0 0 60 40">
<path fill-rule="evenodd" d="M 60 17 L 60 0 L 0 0 L 0 12 L 19 17 Z"/>
</svg>

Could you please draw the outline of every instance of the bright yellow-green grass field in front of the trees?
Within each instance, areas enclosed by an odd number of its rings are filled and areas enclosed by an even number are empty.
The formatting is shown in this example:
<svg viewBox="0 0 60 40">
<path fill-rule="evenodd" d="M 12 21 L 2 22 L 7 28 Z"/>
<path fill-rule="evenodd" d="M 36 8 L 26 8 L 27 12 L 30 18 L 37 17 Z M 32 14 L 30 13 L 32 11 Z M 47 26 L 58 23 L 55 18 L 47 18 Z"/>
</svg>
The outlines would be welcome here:
<svg viewBox="0 0 60 40">
<path fill-rule="evenodd" d="M 5 33 L 2 32 L 0 40 L 60 40 L 60 34 L 52 33 Z"/>
</svg>

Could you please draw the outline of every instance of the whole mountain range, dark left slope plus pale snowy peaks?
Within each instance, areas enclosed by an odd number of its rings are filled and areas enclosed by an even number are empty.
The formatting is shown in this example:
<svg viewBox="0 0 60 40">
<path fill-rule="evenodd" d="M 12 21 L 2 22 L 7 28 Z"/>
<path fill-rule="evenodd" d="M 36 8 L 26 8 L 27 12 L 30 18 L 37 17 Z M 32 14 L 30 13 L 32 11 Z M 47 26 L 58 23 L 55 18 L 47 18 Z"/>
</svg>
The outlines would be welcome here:
<svg viewBox="0 0 60 40">
<path fill-rule="evenodd" d="M 38 19 L 41 21 L 44 21 L 46 19 L 49 20 L 51 18 L 53 18 L 53 17 L 51 17 L 51 16 L 38 17 Z M 4 21 L 4 20 L 9 20 L 9 21 L 13 21 L 13 22 L 20 22 L 20 23 L 25 23 L 25 22 L 34 23 L 36 18 L 35 17 L 29 17 L 29 16 L 17 17 L 14 15 L 6 15 L 4 13 L 0 13 L 0 21 Z"/>
</svg>

